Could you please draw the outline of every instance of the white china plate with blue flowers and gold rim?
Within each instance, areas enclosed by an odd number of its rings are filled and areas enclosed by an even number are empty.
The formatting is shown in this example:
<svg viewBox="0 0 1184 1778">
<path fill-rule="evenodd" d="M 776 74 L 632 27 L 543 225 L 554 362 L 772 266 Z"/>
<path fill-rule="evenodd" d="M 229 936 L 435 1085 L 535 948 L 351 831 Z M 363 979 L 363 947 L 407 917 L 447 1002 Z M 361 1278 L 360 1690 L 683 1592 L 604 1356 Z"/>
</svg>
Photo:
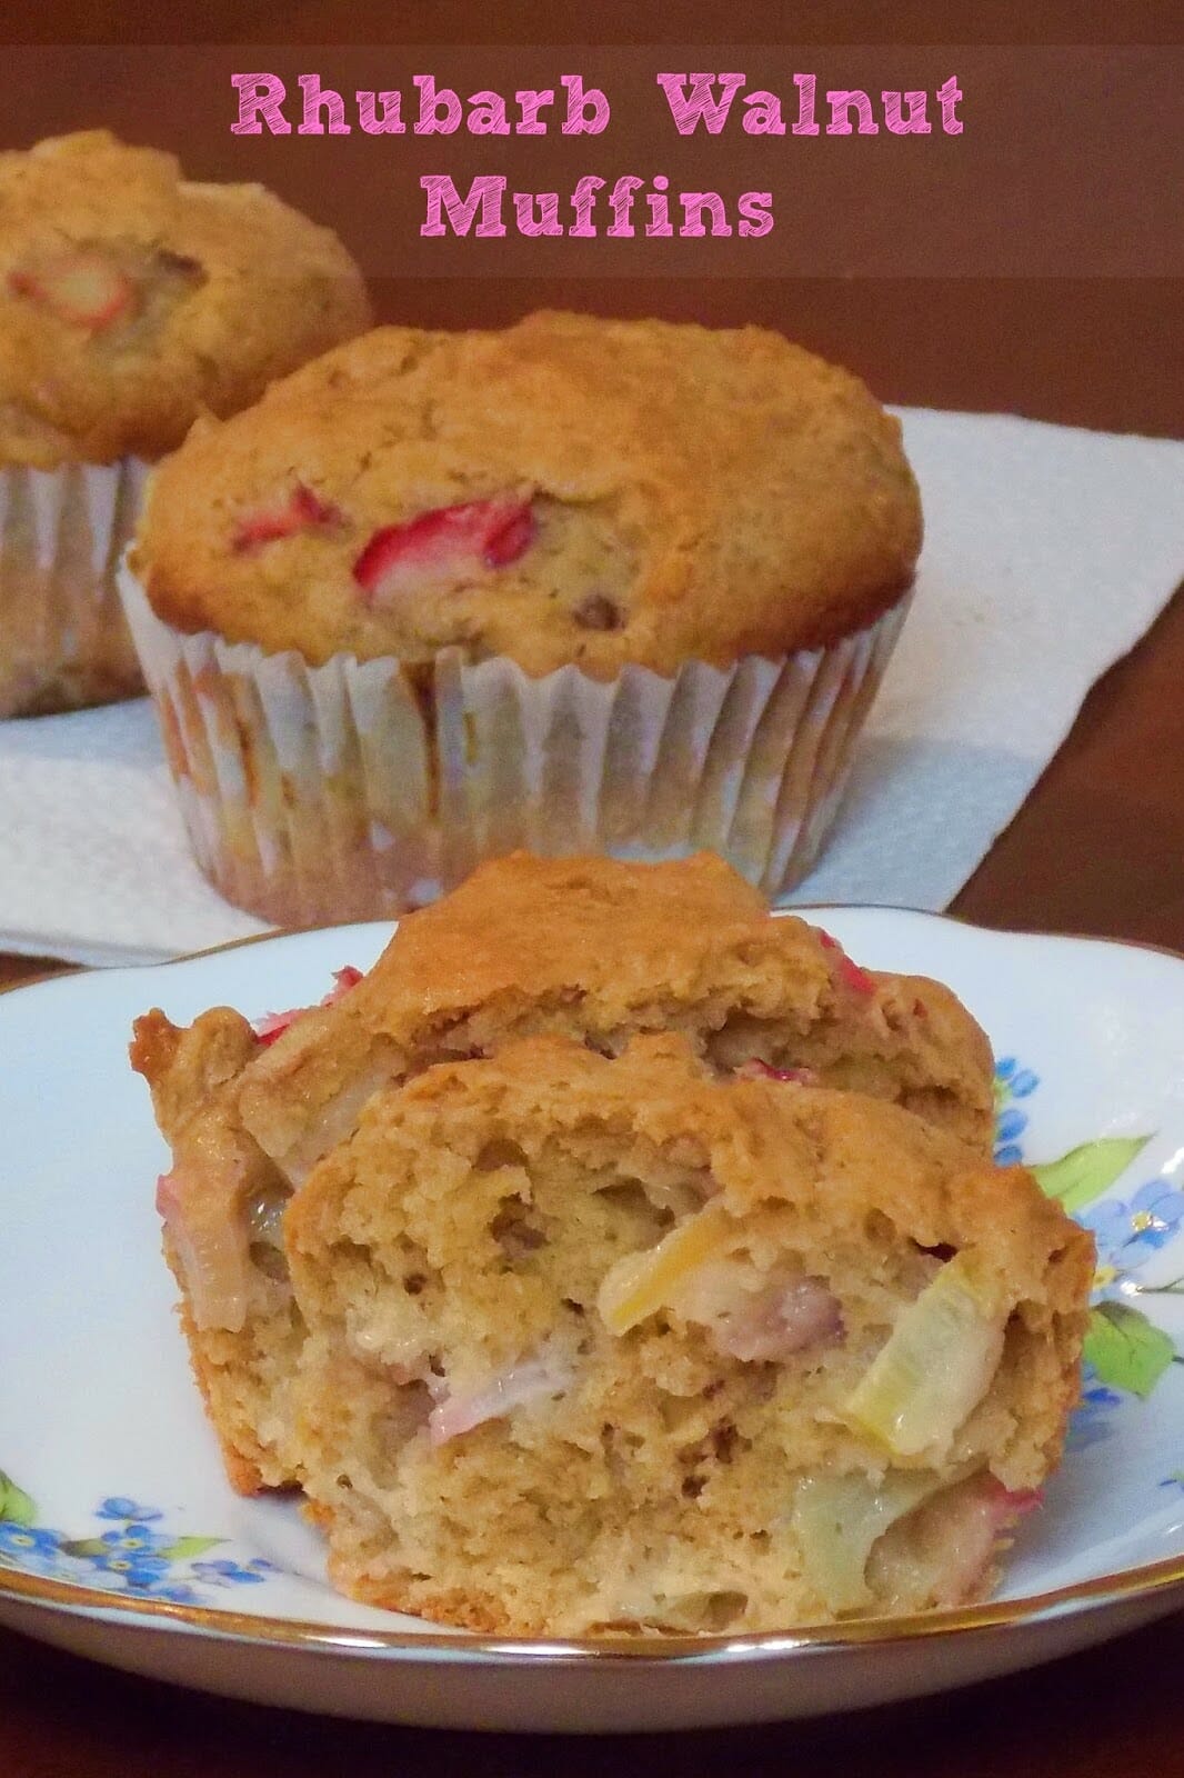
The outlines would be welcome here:
<svg viewBox="0 0 1184 1778">
<path fill-rule="evenodd" d="M 389 926 L 343 926 L 0 999 L 0 1622 L 208 1691 L 452 1728 L 636 1730 L 853 1709 L 1013 1671 L 1184 1600 L 1184 960 L 832 909 L 871 967 L 935 974 L 987 1026 L 1008 1156 L 1081 1143 L 1099 1344 L 1072 1447 L 981 1607 L 732 1639 L 523 1643 L 340 1598 L 293 1502 L 226 1485 L 158 1252 L 167 1163 L 132 1019 L 320 997 Z M 1134 1154 L 1134 1138 L 1147 1138 Z M 1125 1140 L 1127 1147 L 1118 1147 Z M 1052 1184 L 1065 1184 L 1067 1173 Z M 1084 1184 L 1081 1184 L 1084 1181 Z M 1180 1285 L 1184 1289 L 1184 1284 Z M 1152 1383 L 1152 1373 L 1161 1373 Z M 1118 1383 L 1148 1389 L 1141 1398 Z"/>
</svg>

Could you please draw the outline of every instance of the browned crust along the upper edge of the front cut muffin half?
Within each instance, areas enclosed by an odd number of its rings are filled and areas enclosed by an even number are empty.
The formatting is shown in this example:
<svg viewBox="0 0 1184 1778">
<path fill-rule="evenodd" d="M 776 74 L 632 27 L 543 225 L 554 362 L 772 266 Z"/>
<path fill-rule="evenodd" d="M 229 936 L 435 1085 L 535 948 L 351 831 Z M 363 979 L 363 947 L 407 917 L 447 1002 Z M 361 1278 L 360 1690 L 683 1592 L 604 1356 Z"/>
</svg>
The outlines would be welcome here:
<svg viewBox="0 0 1184 1778">
<path fill-rule="evenodd" d="M 677 1035 L 636 1037 L 615 1060 L 560 1035 L 514 1042 L 498 1056 L 437 1063 L 370 1101 L 368 1131 L 405 1125 L 411 1147 L 430 1152 L 448 1140 L 457 1104 L 478 1104 L 498 1125 L 546 1118 L 576 1131 L 596 1108 L 613 1134 L 638 1134 L 654 1149 L 699 1143 L 738 1213 L 784 1193 L 800 1173 L 796 1207 L 836 1209 L 857 1227 L 869 1209 L 892 1220 L 923 1248 L 976 1241 L 1003 1255 L 1017 1296 L 1035 1291 L 1047 1264 L 1067 1255 L 1056 1307 L 1081 1300 L 1092 1277 L 1092 1237 L 1035 1184 L 1022 1166 L 990 1166 L 948 1131 L 864 1093 L 786 1086 L 773 1079 L 720 1081 Z M 743 1141 L 738 1143 L 738 1131 Z M 434 1134 L 432 1134 L 434 1133 Z M 800 1165 L 793 1161 L 800 1154 Z M 825 1166 L 807 1165 L 825 1156 Z M 292 1204 L 286 1239 L 299 1248 L 324 1237 L 325 1209 L 348 1179 L 347 1149 L 318 1170 Z M 336 1184 L 331 1184 L 331 1177 Z"/>
</svg>

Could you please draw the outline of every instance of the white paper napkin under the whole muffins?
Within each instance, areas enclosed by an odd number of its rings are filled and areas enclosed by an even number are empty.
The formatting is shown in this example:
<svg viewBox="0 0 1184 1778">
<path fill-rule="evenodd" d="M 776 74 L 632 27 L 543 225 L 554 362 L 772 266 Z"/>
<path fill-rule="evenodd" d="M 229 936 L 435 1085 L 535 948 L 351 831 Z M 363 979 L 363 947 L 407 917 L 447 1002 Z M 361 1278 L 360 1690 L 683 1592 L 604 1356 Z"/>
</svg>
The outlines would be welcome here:
<svg viewBox="0 0 1184 1778">
<path fill-rule="evenodd" d="M 793 901 L 940 909 L 1184 576 L 1184 444 L 903 409 L 926 541 L 836 832 Z M 146 702 L 0 722 L 0 949 L 263 932 L 188 859 Z"/>
</svg>

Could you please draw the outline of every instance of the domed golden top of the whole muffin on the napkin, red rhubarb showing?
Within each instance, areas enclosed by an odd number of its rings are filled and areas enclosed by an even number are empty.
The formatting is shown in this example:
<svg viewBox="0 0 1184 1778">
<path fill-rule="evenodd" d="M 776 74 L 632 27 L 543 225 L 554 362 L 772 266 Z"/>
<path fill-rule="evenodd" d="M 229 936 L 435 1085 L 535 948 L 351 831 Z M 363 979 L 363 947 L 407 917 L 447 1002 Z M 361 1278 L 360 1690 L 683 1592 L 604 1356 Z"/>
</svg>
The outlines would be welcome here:
<svg viewBox="0 0 1184 1778">
<path fill-rule="evenodd" d="M 167 622 L 313 665 L 459 647 L 612 677 L 782 656 L 912 581 L 917 489 L 859 379 L 757 327 L 384 327 L 201 420 L 135 565 Z"/>
</svg>

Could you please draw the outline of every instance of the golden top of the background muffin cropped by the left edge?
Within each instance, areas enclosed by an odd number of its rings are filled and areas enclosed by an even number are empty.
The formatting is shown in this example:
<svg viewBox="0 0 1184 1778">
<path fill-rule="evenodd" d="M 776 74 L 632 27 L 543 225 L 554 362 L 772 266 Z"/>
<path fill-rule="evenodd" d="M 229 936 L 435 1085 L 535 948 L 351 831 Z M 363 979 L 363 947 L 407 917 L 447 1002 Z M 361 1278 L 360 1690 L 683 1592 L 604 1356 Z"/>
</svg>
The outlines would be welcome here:
<svg viewBox="0 0 1184 1778">
<path fill-rule="evenodd" d="M 107 130 L 0 155 L 0 466 L 155 459 L 370 322 L 331 229 Z"/>
</svg>

